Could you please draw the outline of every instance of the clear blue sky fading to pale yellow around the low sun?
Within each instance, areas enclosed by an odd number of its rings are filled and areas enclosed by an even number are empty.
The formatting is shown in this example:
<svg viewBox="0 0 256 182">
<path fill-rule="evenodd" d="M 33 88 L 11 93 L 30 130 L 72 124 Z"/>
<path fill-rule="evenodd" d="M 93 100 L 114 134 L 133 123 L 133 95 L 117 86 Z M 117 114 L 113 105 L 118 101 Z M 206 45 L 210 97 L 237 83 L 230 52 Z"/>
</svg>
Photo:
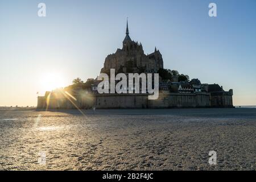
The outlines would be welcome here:
<svg viewBox="0 0 256 182">
<path fill-rule="evenodd" d="M 165 68 L 234 89 L 234 105 L 256 105 L 255 9 L 255 0 L 0 1 L 0 106 L 36 105 L 44 74 L 65 85 L 96 77 L 122 47 L 127 16 L 131 39 L 145 53 L 156 46 Z"/>
</svg>

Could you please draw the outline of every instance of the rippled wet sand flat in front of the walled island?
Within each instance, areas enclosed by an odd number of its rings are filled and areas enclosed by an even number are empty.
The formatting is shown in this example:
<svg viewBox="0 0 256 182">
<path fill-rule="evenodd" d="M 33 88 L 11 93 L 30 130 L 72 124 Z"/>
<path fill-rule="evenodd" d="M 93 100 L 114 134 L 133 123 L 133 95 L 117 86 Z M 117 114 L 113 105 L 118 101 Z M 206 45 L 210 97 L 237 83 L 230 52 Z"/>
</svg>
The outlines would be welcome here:
<svg viewBox="0 0 256 182">
<path fill-rule="evenodd" d="M 0 169 L 256 169 L 253 108 L 82 112 L 0 110 Z"/>
</svg>

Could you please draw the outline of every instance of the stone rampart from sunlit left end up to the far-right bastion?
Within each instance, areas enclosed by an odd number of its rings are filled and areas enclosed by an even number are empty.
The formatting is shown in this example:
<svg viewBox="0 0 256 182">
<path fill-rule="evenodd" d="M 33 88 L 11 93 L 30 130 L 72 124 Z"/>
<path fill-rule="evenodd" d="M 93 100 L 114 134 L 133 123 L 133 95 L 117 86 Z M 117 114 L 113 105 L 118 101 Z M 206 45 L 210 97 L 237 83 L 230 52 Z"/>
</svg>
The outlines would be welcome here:
<svg viewBox="0 0 256 182">
<path fill-rule="evenodd" d="M 148 100 L 147 94 L 88 94 L 73 98 L 38 97 L 38 109 L 144 109 L 171 107 L 210 107 L 210 93 L 159 93 L 158 100 Z"/>
</svg>

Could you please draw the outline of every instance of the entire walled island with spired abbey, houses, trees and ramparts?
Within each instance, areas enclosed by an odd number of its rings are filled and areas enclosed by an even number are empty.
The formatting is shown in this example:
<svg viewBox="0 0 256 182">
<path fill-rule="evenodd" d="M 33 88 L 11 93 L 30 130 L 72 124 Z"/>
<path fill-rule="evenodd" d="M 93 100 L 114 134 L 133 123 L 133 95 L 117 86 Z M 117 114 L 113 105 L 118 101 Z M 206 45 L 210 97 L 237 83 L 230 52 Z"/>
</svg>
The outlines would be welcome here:
<svg viewBox="0 0 256 182">
<path fill-rule="evenodd" d="M 125 108 L 172 108 L 172 107 L 233 107 L 233 90 L 225 91 L 218 84 L 202 84 L 198 78 L 189 80 L 184 75 L 168 74 L 163 69 L 163 57 L 159 50 L 146 55 L 141 43 L 134 42 L 129 36 L 128 22 L 122 49 L 108 55 L 101 73 L 159 73 L 159 97 L 148 100 L 148 94 L 99 94 L 98 80 L 75 82 L 63 89 L 46 92 L 38 97 L 38 109 L 125 109 Z M 180 78 L 181 76 L 181 78 Z M 72 97 L 71 97 L 72 96 Z"/>
</svg>

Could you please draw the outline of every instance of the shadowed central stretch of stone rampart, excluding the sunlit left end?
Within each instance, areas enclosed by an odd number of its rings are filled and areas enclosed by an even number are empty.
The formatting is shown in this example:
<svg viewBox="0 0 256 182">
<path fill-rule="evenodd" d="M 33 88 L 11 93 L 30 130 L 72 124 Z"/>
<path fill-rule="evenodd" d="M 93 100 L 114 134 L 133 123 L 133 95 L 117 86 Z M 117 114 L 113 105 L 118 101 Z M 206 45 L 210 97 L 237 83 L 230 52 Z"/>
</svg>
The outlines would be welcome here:
<svg viewBox="0 0 256 182">
<path fill-rule="evenodd" d="M 114 108 L 171 108 L 171 107 L 210 107 L 209 93 L 160 93 L 158 100 L 148 100 L 147 94 L 98 94 L 94 106 L 99 109 Z"/>
</svg>

